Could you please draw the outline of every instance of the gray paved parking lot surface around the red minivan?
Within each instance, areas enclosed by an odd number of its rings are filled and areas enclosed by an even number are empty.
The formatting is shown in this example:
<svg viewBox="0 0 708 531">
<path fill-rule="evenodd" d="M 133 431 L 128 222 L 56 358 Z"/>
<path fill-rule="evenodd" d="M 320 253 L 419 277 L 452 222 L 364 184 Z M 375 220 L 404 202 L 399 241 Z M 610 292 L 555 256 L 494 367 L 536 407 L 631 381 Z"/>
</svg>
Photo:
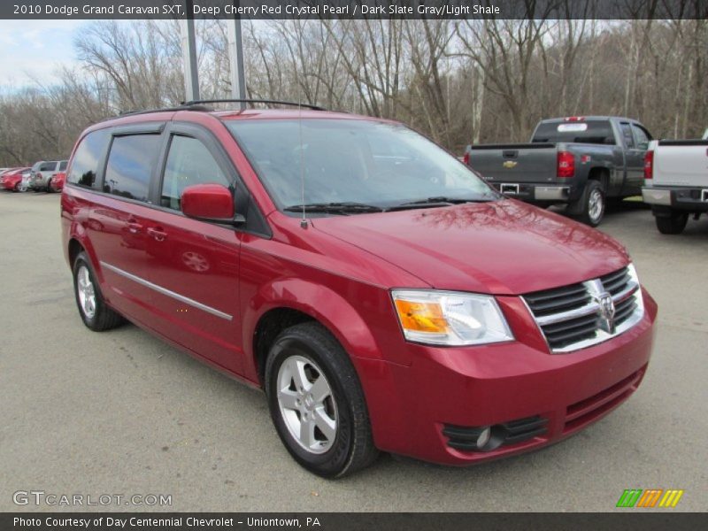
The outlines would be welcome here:
<svg viewBox="0 0 708 531">
<path fill-rule="evenodd" d="M 260 392 L 135 326 L 83 326 L 58 203 L 0 193 L 0 511 L 81 509 L 18 506 L 18 490 L 172 496 L 98 507 L 109 511 L 612 511 L 624 489 L 683 489 L 675 510 L 708 506 L 708 219 L 678 236 L 637 204 L 604 220 L 659 305 L 649 372 L 609 417 L 517 458 L 448 468 L 382 455 L 327 481 L 289 457 Z"/>
</svg>

